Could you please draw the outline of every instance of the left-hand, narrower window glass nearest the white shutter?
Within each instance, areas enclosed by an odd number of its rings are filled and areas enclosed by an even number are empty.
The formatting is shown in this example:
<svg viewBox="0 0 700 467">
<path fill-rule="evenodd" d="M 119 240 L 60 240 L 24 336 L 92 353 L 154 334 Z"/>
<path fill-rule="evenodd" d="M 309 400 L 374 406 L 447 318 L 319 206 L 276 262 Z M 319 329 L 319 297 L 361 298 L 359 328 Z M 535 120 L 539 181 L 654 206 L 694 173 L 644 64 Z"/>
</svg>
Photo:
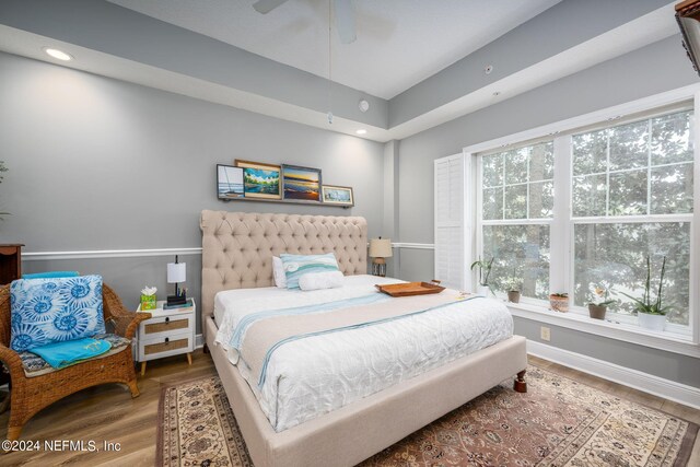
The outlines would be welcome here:
<svg viewBox="0 0 700 467">
<path fill-rule="evenodd" d="M 483 258 L 494 258 L 490 285 L 518 282 L 523 296 L 549 293 L 549 226 L 555 207 L 551 141 L 482 156 Z"/>
</svg>

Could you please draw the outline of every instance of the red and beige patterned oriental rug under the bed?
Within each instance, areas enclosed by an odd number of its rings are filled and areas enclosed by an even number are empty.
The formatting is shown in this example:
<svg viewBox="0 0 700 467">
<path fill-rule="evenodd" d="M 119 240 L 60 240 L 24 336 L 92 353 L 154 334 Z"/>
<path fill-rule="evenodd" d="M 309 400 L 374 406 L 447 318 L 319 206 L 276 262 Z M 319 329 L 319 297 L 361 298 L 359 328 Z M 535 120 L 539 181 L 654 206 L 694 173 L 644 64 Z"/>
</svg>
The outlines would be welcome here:
<svg viewBox="0 0 700 467">
<path fill-rule="evenodd" d="M 645 466 L 688 463 L 693 423 L 528 366 L 362 463 L 387 466 Z M 435 395 L 439 397 L 439 395 Z M 158 465 L 253 466 L 217 376 L 163 389 Z"/>
</svg>

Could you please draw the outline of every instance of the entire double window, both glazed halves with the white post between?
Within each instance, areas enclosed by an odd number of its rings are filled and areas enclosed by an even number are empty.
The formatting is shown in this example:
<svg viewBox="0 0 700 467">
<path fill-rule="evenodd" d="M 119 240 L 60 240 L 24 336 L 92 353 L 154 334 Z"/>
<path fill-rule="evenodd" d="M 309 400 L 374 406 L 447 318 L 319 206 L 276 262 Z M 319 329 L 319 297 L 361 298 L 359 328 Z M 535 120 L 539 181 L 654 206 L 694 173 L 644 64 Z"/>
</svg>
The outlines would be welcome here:
<svg viewBox="0 0 700 467">
<path fill-rule="evenodd" d="M 695 153 L 688 107 L 478 154 L 477 254 L 495 258 L 491 287 L 505 292 L 520 283 L 523 296 L 541 301 L 568 292 L 572 311 L 587 314 L 592 291 L 602 285 L 615 300 L 608 316 L 632 324 L 625 294 L 642 295 L 648 256 L 656 291 L 666 257 L 667 330 L 689 335 Z"/>
</svg>

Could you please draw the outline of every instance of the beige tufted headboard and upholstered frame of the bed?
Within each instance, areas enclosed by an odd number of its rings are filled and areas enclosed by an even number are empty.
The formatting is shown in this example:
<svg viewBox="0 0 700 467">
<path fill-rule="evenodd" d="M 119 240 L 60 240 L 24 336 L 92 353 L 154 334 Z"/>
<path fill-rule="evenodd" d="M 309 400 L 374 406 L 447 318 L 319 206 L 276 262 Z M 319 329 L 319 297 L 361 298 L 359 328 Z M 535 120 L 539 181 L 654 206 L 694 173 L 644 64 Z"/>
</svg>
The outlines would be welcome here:
<svg viewBox="0 0 700 467">
<path fill-rule="evenodd" d="M 272 287 L 272 256 L 281 253 L 332 252 L 343 275 L 365 275 L 366 222 L 354 217 L 202 211 L 200 226 L 202 331 L 257 467 L 354 465 L 515 374 L 516 389 L 524 390 L 525 339 L 511 336 L 277 431 L 280 427 L 272 425 L 269 410 L 262 410 L 252 385 L 230 362 L 230 352 L 214 343 L 214 297 L 222 291 Z"/>
</svg>

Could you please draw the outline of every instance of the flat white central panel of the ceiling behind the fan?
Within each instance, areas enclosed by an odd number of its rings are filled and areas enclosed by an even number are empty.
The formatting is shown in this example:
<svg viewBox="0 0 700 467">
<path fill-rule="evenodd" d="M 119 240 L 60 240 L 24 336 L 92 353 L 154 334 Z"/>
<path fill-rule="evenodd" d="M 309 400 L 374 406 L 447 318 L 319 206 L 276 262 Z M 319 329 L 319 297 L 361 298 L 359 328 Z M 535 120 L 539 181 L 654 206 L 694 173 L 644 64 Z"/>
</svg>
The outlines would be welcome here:
<svg viewBox="0 0 700 467">
<path fill-rule="evenodd" d="M 288 0 L 265 15 L 255 0 L 109 1 L 328 78 L 329 0 Z M 331 79 L 392 98 L 560 1 L 352 0 L 358 38 L 343 45 L 332 31 Z"/>
</svg>

